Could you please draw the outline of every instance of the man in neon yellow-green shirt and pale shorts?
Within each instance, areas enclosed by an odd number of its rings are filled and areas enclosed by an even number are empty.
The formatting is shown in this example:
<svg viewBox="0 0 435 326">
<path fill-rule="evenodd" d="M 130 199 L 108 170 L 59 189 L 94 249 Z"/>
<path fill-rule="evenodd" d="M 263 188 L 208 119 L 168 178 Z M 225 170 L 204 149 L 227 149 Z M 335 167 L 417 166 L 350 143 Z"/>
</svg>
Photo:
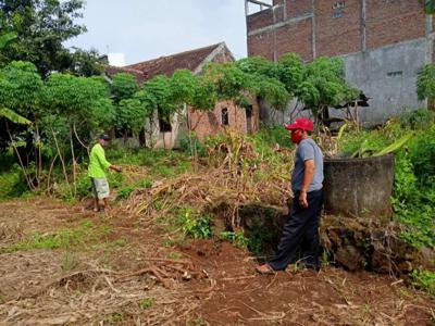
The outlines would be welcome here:
<svg viewBox="0 0 435 326">
<path fill-rule="evenodd" d="M 99 211 L 99 200 L 102 199 L 104 202 L 104 210 L 109 211 L 109 183 L 105 176 L 105 171 L 111 168 L 116 172 L 121 172 L 121 167 L 110 164 L 105 160 L 103 147 L 110 143 L 110 137 L 107 134 L 102 134 L 98 138 L 98 142 L 92 147 L 89 155 L 89 167 L 88 176 L 90 177 L 90 184 L 92 186 L 94 193 L 94 212 Z"/>
</svg>

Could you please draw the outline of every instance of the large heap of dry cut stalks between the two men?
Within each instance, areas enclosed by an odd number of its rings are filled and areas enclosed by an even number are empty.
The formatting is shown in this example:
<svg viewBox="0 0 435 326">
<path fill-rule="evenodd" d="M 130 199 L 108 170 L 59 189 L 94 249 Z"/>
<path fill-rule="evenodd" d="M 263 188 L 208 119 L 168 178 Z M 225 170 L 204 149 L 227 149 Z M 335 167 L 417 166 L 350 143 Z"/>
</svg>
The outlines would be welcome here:
<svg viewBox="0 0 435 326">
<path fill-rule="evenodd" d="M 207 152 L 206 158 L 198 159 L 194 173 L 136 189 L 128 199 L 128 212 L 156 217 L 183 206 L 196 212 L 219 210 L 236 228 L 240 225 L 240 206 L 286 206 L 291 197 L 294 150 L 264 146 L 258 138 L 227 130 L 207 142 Z"/>
</svg>

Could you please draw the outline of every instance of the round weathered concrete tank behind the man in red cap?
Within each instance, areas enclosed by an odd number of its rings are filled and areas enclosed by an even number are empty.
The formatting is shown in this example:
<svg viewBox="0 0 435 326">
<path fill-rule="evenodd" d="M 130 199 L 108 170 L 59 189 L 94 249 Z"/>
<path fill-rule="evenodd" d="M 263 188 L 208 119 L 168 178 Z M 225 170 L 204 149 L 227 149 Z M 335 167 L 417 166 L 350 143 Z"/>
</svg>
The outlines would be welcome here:
<svg viewBox="0 0 435 326">
<path fill-rule="evenodd" d="M 393 154 L 325 159 L 325 212 L 343 216 L 390 216 L 394 165 Z"/>
</svg>

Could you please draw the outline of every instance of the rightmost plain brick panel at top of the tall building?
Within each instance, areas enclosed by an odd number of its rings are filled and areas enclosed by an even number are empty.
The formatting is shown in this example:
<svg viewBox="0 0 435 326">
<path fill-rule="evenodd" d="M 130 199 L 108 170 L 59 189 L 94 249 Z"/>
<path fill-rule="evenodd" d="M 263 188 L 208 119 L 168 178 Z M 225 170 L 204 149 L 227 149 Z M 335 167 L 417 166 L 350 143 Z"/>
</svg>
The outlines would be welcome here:
<svg viewBox="0 0 435 326">
<path fill-rule="evenodd" d="M 373 49 L 425 35 L 418 0 L 366 0 L 366 47 Z"/>
</svg>

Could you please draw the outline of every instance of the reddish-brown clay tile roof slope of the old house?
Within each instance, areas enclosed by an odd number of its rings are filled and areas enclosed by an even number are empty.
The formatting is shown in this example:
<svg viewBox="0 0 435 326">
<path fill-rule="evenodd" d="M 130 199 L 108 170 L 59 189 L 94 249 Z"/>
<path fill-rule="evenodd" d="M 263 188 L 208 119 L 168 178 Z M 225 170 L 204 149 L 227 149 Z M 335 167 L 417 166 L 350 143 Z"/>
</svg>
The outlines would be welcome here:
<svg viewBox="0 0 435 326">
<path fill-rule="evenodd" d="M 129 68 L 136 72 L 141 72 L 145 79 L 150 79 L 156 75 L 172 76 L 176 70 L 195 71 L 206 59 L 222 43 L 200 48 L 196 50 L 185 51 L 167 57 L 144 61 L 127 65 L 124 68 Z"/>
</svg>

